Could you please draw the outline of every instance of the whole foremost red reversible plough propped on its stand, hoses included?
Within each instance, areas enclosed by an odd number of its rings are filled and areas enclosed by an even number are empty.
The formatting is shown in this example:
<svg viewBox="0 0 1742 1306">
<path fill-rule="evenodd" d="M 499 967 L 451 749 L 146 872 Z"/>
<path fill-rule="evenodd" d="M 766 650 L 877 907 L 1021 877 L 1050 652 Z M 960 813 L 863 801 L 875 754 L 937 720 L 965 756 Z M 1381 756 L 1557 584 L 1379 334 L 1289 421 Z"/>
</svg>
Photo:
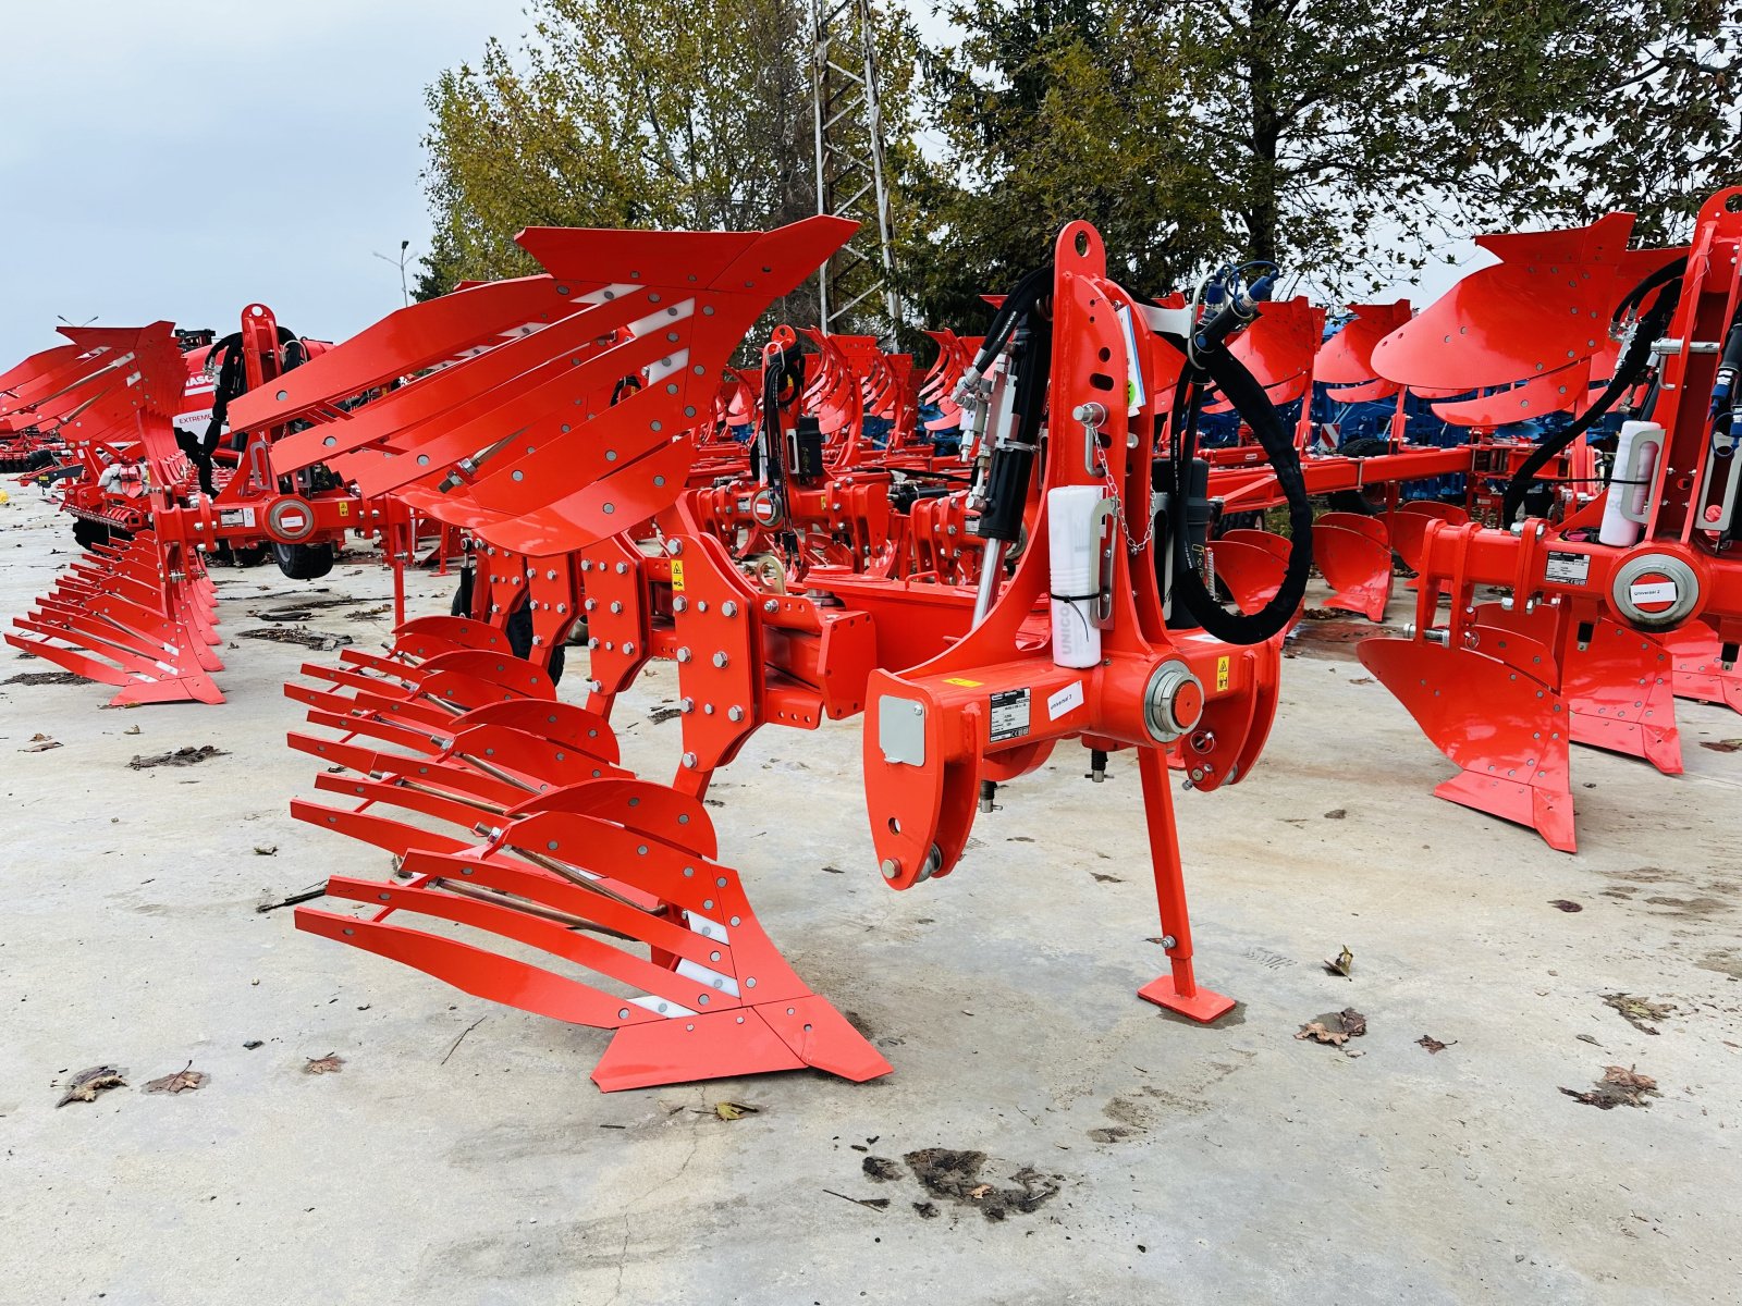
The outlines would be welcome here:
<svg viewBox="0 0 1742 1306">
<path fill-rule="evenodd" d="M 923 381 L 930 420 L 942 399 L 967 418 L 962 453 L 922 448 L 935 442 L 913 399 L 881 404 L 878 449 L 841 420 L 880 395 L 852 345 L 801 355 L 780 329 L 760 373 L 728 371 L 766 305 L 850 230 L 531 230 L 521 244 L 545 275 L 401 310 L 232 407 L 244 428 L 310 423 L 273 446 L 279 475 L 319 463 L 474 540 L 469 615 L 413 620 L 385 655 L 345 650 L 289 688 L 315 726 L 291 744 L 336 799 L 294 813 L 397 858 L 394 881 L 333 879 L 364 914 L 303 907 L 298 925 L 615 1031 L 594 1073 L 604 1088 L 888 1069 L 779 958 L 716 860 L 700 799 L 765 724 L 864 716 L 873 845 L 897 890 L 951 874 L 995 787 L 1061 742 L 1089 747 L 1096 771 L 1134 749 L 1171 959 L 1141 993 L 1198 1020 L 1232 1006 L 1195 979 L 1167 771 L 1195 789 L 1251 773 L 1306 582 L 1293 441 L 1221 343 L 1254 305 L 1202 320 L 1144 305 L 1073 225 L 972 357 L 946 347 L 949 394 Z M 561 315 L 502 343 L 528 303 Z M 341 402 L 394 378 L 415 380 Z M 1165 442 L 1174 407 L 1211 378 L 1280 460 L 1301 526 L 1256 615 L 1219 608 L 1200 578 L 1200 463 Z M 742 446 L 733 427 L 751 428 Z M 892 505 L 939 491 L 958 500 L 972 559 L 949 573 L 920 569 L 892 526 L 908 515 Z M 507 637 L 523 609 L 524 658 Z M 577 622 L 591 676 L 571 705 L 554 653 Z M 669 784 L 624 771 L 610 724 L 653 658 L 678 674 Z"/>
</svg>

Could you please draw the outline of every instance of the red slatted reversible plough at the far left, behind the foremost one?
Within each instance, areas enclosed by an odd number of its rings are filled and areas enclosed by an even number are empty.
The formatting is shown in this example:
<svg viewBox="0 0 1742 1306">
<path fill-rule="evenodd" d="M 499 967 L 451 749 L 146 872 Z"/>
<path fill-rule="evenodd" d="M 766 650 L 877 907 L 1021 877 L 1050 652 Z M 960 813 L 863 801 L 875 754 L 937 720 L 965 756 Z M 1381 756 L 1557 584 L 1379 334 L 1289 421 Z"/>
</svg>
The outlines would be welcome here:
<svg viewBox="0 0 1742 1306">
<path fill-rule="evenodd" d="M 287 428 L 228 430 L 237 395 L 324 350 L 265 305 L 219 341 L 167 322 L 63 334 L 70 345 L 0 378 L 0 432 L 7 465 L 54 493 L 85 554 L 14 622 L 9 644 L 115 686 L 115 703 L 219 703 L 209 557 L 270 555 L 314 580 L 348 529 L 380 533 L 390 552 L 415 545 L 397 503 L 364 502 L 319 470 L 273 475 L 267 451 Z"/>
</svg>

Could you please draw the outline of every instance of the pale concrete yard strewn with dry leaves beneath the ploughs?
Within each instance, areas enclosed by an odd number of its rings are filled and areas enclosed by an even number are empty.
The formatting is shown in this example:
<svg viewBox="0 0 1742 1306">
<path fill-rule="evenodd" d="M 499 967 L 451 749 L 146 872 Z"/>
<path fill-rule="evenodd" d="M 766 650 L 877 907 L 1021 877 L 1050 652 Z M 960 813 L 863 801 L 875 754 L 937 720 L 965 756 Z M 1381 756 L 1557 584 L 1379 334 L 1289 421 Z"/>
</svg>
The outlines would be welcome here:
<svg viewBox="0 0 1742 1306">
<path fill-rule="evenodd" d="M 14 491 L 0 611 L 70 550 Z M 1214 1027 L 1134 996 L 1162 951 L 1129 763 L 1092 787 L 1061 751 L 979 818 L 951 878 L 894 893 L 857 723 L 765 730 L 714 791 L 721 860 L 895 1071 L 601 1095 L 606 1034 L 256 911 L 387 862 L 286 811 L 312 791 L 279 691 L 305 651 L 240 632 L 296 585 L 218 578 L 223 707 L 0 684 L 0 1301 L 1742 1296 L 1742 752 L 1698 747 L 1742 737 L 1733 714 L 1681 703 L 1681 778 L 1578 749 L 1583 852 L 1564 857 L 1434 799 L 1449 768 L 1404 710 L 1347 646 L 1308 648 L 1252 778 L 1179 801 L 1200 979 L 1242 1001 Z M 319 585 L 390 592 L 362 561 Z M 429 611 L 449 582 L 411 589 Z M 376 639 L 385 616 L 347 615 L 375 606 L 308 625 Z M 0 655 L 0 681 L 42 669 Z M 648 709 L 671 697 L 655 670 L 617 717 L 655 777 L 678 726 Z M 63 747 L 21 752 L 37 733 Z M 226 756 L 129 768 L 195 745 Z M 1345 946 L 1352 979 L 1320 965 Z M 1615 993 L 1674 1010 L 1644 1033 Z M 1345 1006 L 1367 1017 L 1362 1055 L 1294 1038 Z M 341 1073 L 303 1073 L 326 1054 Z M 99 1062 L 127 1087 L 56 1109 Z M 211 1076 L 199 1092 L 143 1092 L 188 1062 Z M 1604 1066 L 1660 1097 L 1597 1111 L 1559 1092 Z M 984 1153 L 986 1198 L 927 1191 L 904 1158 L 935 1148 Z M 988 1219 L 1007 1193 L 1017 1208 Z"/>
</svg>

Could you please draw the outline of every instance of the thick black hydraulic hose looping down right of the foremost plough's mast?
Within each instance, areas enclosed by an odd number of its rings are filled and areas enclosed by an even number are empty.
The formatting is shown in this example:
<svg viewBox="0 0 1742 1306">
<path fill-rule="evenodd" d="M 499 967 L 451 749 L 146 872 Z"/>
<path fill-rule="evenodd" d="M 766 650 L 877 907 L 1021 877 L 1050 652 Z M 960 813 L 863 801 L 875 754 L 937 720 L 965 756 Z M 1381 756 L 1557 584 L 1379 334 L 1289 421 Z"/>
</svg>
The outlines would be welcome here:
<svg viewBox="0 0 1742 1306">
<path fill-rule="evenodd" d="M 1167 340 L 1185 353 L 1183 340 L 1176 336 L 1167 336 Z M 1270 460 L 1277 488 L 1289 505 L 1289 561 L 1282 573 L 1282 585 L 1270 597 L 1270 603 L 1256 613 L 1230 613 L 1216 603 L 1216 596 L 1211 594 L 1198 575 L 1198 564 L 1192 557 L 1192 543 L 1185 529 L 1185 493 L 1188 486 L 1185 472 L 1192 456 L 1192 449 L 1186 446 L 1190 446 L 1192 435 L 1188 430 L 1176 427 L 1174 507 L 1169 514 L 1172 517 L 1169 526 L 1172 528 L 1176 561 L 1172 594 L 1185 603 L 1186 611 L 1204 630 L 1225 644 L 1263 644 L 1287 629 L 1294 620 L 1296 609 L 1300 609 L 1301 599 L 1306 597 L 1306 578 L 1312 571 L 1312 502 L 1306 498 L 1306 481 L 1301 475 L 1300 453 L 1294 449 L 1294 439 L 1282 425 L 1275 404 L 1270 402 L 1270 395 L 1265 394 L 1258 380 L 1228 350 L 1200 350 L 1197 362 L 1185 366 L 1174 392 L 1176 420 L 1185 416 L 1188 402 L 1185 390 L 1190 387 L 1195 392 L 1205 376 L 1216 383 L 1221 397 L 1233 404 L 1240 420 L 1251 427 L 1252 435 L 1258 437 L 1265 456 Z M 1190 404 L 1197 404 L 1195 394 Z M 1193 418 L 1183 425 L 1195 427 L 1197 423 Z M 1179 461 L 1181 456 L 1185 461 Z"/>
</svg>

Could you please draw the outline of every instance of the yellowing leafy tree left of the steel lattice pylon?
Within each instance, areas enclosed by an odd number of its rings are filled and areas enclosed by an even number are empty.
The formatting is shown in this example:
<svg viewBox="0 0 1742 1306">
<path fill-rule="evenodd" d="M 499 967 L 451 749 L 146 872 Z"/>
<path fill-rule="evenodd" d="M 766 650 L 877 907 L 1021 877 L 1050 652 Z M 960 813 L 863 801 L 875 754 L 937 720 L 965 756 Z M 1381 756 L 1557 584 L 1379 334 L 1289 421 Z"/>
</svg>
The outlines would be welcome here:
<svg viewBox="0 0 1742 1306">
<path fill-rule="evenodd" d="M 523 226 L 756 228 L 815 211 L 798 0 L 531 0 L 427 91 L 420 296 L 531 270 Z"/>
</svg>

